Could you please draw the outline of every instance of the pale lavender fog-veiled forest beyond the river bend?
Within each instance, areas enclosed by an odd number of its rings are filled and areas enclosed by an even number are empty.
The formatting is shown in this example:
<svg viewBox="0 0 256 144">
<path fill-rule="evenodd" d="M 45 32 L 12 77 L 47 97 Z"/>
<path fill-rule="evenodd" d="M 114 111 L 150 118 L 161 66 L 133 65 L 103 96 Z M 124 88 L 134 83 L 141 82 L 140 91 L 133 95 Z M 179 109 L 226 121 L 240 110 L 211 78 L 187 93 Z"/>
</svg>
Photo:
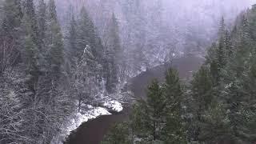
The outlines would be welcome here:
<svg viewBox="0 0 256 144">
<path fill-rule="evenodd" d="M 57 0 L 58 14 L 67 20 L 70 6 L 78 14 L 86 6 L 104 38 L 107 22 L 114 13 L 120 25 L 122 46 L 136 70 L 165 62 L 170 49 L 179 54 L 205 54 L 217 37 L 222 17 L 232 27 L 237 15 L 253 0 Z M 63 22 L 65 23 L 65 22 Z M 64 26 L 65 29 L 65 26 Z M 134 55 L 134 53 L 138 55 Z M 166 55 L 167 54 L 167 55 Z M 135 57 L 135 58 L 134 58 Z M 139 57 L 139 58 L 138 58 Z M 134 65 L 134 62 L 131 64 Z M 134 70 L 134 71 L 136 71 Z M 131 72 L 132 73 L 134 73 Z"/>
</svg>

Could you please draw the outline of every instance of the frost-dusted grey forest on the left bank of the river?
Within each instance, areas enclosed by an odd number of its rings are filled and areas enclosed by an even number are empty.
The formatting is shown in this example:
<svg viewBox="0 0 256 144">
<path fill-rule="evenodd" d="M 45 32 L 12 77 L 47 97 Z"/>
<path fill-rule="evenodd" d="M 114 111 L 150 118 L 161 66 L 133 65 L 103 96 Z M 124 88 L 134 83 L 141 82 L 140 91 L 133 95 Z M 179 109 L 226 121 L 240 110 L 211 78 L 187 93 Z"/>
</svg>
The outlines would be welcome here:
<svg viewBox="0 0 256 144">
<path fill-rule="evenodd" d="M 77 107 L 118 90 L 118 23 L 113 14 L 103 47 L 85 7 L 78 17 L 71 13 L 65 35 L 54 0 L 1 7 L 0 143 L 50 143 Z"/>
</svg>

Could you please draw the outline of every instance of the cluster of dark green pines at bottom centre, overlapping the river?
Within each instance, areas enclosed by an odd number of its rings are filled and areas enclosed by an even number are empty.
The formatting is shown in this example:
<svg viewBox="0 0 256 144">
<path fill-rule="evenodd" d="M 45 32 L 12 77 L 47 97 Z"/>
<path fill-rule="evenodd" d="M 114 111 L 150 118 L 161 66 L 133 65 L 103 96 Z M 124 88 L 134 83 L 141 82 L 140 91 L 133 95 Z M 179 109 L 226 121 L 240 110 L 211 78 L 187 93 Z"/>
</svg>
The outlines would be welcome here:
<svg viewBox="0 0 256 144">
<path fill-rule="evenodd" d="M 136 143 L 185 144 L 182 96 L 177 70 L 167 71 L 166 82 L 163 85 L 154 80 L 148 86 L 146 100 L 141 99 L 133 106 L 126 140 Z M 103 143 L 108 139 L 114 139 L 115 133 L 115 130 L 111 131 Z"/>
</svg>

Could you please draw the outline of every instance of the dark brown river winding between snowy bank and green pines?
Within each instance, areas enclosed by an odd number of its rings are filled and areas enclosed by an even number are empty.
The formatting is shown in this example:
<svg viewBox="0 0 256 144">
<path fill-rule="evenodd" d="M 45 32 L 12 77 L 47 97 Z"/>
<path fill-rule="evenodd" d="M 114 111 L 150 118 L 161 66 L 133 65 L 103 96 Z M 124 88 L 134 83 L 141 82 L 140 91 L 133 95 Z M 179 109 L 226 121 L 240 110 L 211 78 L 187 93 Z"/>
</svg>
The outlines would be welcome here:
<svg viewBox="0 0 256 144">
<path fill-rule="evenodd" d="M 175 67 L 179 71 L 182 79 L 187 79 L 191 77 L 195 70 L 198 70 L 199 66 L 202 65 L 202 62 L 204 62 L 204 59 L 202 58 L 189 56 L 174 59 L 172 67 Z M 127 89 L 134 93 L 134 98 L 145 97 L 146 86 L 148 86 L 154 78 L 163 81 L 165 78 L 165 71 L 168 67 L 170 67 L 170 65 L 157 66 L 139 74 L 135 78 L 131 78 L 130 82 L 128 82 L 129 88 Z M 73 134 L 70 134 L 69 139 L 64 143 L 99 144 L 115 122 L 122 122 L 128 119 L 129 111 L 128 107 L 124 107 L 124 110 L 121 113 L 103 115 L 85 122 L 79 126 L 78 130 L 75 130 Z"/>
</svg>

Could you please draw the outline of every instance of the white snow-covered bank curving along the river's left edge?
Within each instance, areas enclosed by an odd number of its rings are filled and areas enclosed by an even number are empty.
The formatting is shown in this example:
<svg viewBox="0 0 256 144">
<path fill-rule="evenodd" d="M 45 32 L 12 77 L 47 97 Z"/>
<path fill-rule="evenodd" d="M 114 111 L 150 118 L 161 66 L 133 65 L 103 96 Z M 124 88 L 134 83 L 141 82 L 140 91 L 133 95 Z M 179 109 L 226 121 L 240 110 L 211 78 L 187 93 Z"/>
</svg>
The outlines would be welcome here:
<svg viewBox="0 0 256 144">
<path fill-rule="evenodd" d="M 79 113 L 71 115 L 69 118 L 69 122 L 66 122 L 66 124 L 62 126 L 62 133 L 54 138 L 51 144 L 62 143 L 62 141 L 64 141 L 73 130 L 78 129 L 78 127 L 82 125 L 83 122 L 87 122 L 88 120 L 97 118 L 101 115 L 110 115 L 110 112 L 108 110 L 121 112 L 123 109 L 122 104 L 114 100 L 104 102 L 103 106 L 105 108 L 87 106 L 90 110 L 81 111 Z"/>
</svg>

